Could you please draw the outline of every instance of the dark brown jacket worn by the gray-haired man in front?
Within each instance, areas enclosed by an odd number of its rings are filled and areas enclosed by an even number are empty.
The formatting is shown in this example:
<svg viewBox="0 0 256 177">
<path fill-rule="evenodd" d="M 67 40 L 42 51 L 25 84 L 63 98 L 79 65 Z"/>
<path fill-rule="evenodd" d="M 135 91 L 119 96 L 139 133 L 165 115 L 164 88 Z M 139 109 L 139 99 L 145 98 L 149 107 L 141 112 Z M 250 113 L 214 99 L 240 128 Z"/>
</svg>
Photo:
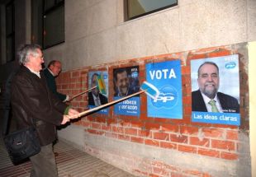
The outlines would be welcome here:
<svg viewBox="0 0 256 177">
<path fill-rule="evenodd" d="M 17 128 L 31 126 L 33 119 L 36 119 L 41 146 L 55 141 L 55 125 L 63 121 L 64 110 L 68 105 L 51 93 L 42 72 L 37 77 L 28 68 L 21 66 L 12 80 L 11 103 L 12 118 L 17 120 Z"/>
</svg>

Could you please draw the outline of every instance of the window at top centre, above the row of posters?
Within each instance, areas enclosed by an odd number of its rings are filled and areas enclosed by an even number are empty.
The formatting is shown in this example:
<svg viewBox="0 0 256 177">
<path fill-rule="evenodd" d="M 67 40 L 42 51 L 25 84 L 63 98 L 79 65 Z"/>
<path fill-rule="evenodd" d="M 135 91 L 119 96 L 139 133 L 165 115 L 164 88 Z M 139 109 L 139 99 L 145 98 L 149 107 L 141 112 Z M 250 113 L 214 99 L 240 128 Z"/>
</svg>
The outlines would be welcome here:
<svg viewBox="0 0 256 177">
<path fill-rule="evenodd" d="M 126 0 L 126 20 L 158 12 L 178 4 L 178 0 Z"/>
</svg>

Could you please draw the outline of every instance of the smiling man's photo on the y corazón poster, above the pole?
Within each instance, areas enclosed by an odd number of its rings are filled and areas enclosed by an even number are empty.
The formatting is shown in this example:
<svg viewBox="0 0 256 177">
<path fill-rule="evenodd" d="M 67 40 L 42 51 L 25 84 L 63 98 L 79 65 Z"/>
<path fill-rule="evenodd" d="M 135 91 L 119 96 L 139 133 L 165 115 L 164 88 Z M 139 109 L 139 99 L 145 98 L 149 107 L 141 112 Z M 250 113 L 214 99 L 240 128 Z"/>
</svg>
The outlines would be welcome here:
<svg viewBox="0 0 256 177">
<path fill-rule="evenodd" d="M 140 90 L 139 67 L 114 69 L 114 96 L 126 96 Z"/>
</svg>

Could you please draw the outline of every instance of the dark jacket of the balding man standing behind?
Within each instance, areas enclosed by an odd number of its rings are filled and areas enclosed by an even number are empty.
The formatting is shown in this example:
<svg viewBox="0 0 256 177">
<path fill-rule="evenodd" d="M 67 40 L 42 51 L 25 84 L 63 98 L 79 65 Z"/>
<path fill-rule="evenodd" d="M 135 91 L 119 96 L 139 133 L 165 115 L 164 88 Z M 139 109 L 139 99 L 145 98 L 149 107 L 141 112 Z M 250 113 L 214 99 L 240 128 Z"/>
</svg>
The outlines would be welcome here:
<svg viewBox="0 0 256 177">
<path fill-rule="evenodd" d="M 44 74 L 45 74 L 45 78 L 46 78 L 46 82 L 47 85 L 50 88 L 50 91 L 52 91 L 56 96 L 58 96 L 58 98 L 60 100 L 65 100 L 67 95 L 64 95 L 62 93 L 59 93 L 57 91 L 57 86 L 56 86 L 56 82 L 55 82 L 55 77 L 50 73 L 50 71 L 48 70 L 48 68 L 44 69 Z"/>
</svg>

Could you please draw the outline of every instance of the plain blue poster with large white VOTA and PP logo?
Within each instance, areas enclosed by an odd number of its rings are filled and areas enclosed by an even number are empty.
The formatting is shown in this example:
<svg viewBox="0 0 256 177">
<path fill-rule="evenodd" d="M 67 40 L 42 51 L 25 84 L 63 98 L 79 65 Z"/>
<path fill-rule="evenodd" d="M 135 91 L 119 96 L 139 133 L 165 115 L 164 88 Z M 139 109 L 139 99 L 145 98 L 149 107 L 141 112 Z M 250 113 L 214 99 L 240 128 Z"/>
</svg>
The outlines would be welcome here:
<svg viewBox="0 0 256 177">
<path fill-rule="evenodd" d="M 183 119 L 181 61 L 146 64 L 146 80 L 159 89 L 159 97 L 147 96 L 148 117 Z"/>
</svg>

